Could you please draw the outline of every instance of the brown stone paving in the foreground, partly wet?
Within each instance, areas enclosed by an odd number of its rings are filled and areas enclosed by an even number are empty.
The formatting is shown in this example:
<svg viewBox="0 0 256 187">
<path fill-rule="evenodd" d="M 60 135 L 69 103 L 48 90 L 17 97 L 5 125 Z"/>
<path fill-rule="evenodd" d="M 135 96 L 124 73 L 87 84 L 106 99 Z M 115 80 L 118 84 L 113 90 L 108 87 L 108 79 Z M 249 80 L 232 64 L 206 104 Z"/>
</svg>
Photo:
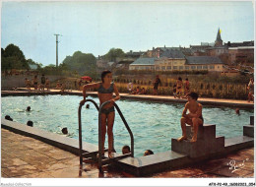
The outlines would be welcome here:
<svg viewBox="0 0 256 187">
<path fill-rule="evenodd" d="M 5 178 L 135 177 L 112 167 L 104 167 L 103 172 L 99 172 L 94 162 L 88 162 L 81 168 L 79 156 L 3 128 L 1 134 L 1 176 Z M 254 148 L 144 177 L 253 178 Z"/>
</svg>

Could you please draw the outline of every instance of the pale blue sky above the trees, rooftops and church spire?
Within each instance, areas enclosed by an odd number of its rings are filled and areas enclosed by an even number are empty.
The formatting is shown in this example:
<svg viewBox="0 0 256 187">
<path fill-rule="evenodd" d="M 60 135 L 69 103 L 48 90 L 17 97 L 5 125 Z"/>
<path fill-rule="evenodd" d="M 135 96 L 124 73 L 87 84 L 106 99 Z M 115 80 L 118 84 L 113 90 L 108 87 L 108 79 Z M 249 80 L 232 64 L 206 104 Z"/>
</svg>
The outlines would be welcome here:
<svg viewBox="0 0 256 187">
<path fill-rule="evenodd" d="M 1 47 L 20 47 L 26 59 L 43 66 L 74 52 L 104 55 L 153 47 L 189 47 L 214 42 L 254 40 L 252 1 L 4 1 Z"/>
</svg>

